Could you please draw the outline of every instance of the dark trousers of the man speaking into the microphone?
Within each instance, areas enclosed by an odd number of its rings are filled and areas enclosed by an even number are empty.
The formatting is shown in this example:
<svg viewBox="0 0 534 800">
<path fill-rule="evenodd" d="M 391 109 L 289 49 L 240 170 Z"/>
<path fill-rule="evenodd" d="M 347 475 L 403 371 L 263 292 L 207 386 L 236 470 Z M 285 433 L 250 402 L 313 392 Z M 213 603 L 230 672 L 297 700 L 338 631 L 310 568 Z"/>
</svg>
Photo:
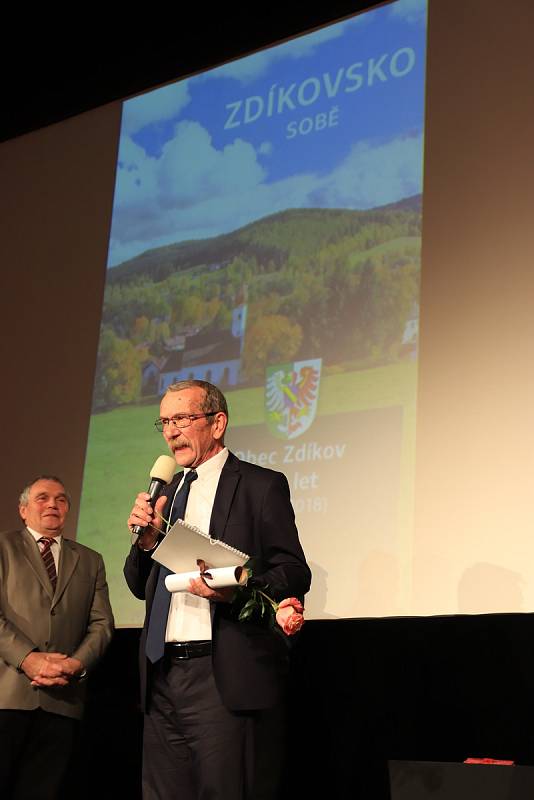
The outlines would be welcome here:
<svg viewBox="0 0 534 800">
<path fill-rule="evenodd" d="M 232 712 L 211 657 L 155 666 L 143 740 L 143 800 L 276 800 L 283 709 Z"/>
</svg>

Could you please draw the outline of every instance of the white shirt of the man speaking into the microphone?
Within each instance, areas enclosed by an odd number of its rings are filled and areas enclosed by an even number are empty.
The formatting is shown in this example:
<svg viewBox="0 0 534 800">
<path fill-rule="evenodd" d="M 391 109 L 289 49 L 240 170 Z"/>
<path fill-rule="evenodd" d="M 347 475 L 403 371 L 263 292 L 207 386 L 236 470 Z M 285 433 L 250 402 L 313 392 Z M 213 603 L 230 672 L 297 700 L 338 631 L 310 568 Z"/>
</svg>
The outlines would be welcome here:
<svg viewBox="0 0 534 800">
<path fill-rule="evenodd" d="M 205 533 L 209 533 L 213 501 L 215 500 L 215 493 L 227 458 L 228 448 L 225 447 L 195 468 L 198 478 L 192 482 L 189 489 L 185 522 L 195 525 Z M 190 469 L 185 467 L 184 477 L 188 472 L 190 472 Z M 178 484 L 176 492 L 178 492 L 182 483 L 183 479 Z M 176 497 L 176 493 L 174 497 Z M 171 514 L 172 506 L 168 519 L 170 519 Z M 210 601 L 205 597 L 198 597 L 190 592 L 174 592 L 171 597 L 165 641 L 191 642 L 208 639 L 211 639 Z"/>
</svg>

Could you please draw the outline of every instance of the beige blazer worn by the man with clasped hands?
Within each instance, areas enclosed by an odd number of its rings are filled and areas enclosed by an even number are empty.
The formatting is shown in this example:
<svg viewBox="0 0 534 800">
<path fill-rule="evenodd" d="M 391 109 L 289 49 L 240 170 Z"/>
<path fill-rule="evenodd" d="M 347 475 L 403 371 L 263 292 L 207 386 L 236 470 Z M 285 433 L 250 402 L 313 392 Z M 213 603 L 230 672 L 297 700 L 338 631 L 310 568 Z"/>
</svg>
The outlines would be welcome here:
<svg viewBox="0 0 534 800">
<path fill-rule="evenodd" d="M 102 556 L 62 539 L 53 592 L 39 548 L 29 531 L 0 533 L 0 708 L 42 708 L 79 718 L 84 681 L 38 688 L 20 671 L 31 650 L 67 653 L 89 671 L 113 633 Z"/>
</svg>

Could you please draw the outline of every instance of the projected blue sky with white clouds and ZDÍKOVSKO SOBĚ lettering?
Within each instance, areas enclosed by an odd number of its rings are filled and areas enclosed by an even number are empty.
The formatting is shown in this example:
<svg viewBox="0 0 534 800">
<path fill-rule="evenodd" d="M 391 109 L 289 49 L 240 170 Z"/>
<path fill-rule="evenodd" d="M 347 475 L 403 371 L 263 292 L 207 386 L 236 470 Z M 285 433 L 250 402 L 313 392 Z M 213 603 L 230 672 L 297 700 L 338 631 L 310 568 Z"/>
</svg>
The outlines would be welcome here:
<svg viewBox="0 0 534 800">
<path fill-rule="evenodd" d="M 127 101 L 109 265 L 420 192 L 425 44 L 426 0 L 397 0 Z"/>
</svg>

